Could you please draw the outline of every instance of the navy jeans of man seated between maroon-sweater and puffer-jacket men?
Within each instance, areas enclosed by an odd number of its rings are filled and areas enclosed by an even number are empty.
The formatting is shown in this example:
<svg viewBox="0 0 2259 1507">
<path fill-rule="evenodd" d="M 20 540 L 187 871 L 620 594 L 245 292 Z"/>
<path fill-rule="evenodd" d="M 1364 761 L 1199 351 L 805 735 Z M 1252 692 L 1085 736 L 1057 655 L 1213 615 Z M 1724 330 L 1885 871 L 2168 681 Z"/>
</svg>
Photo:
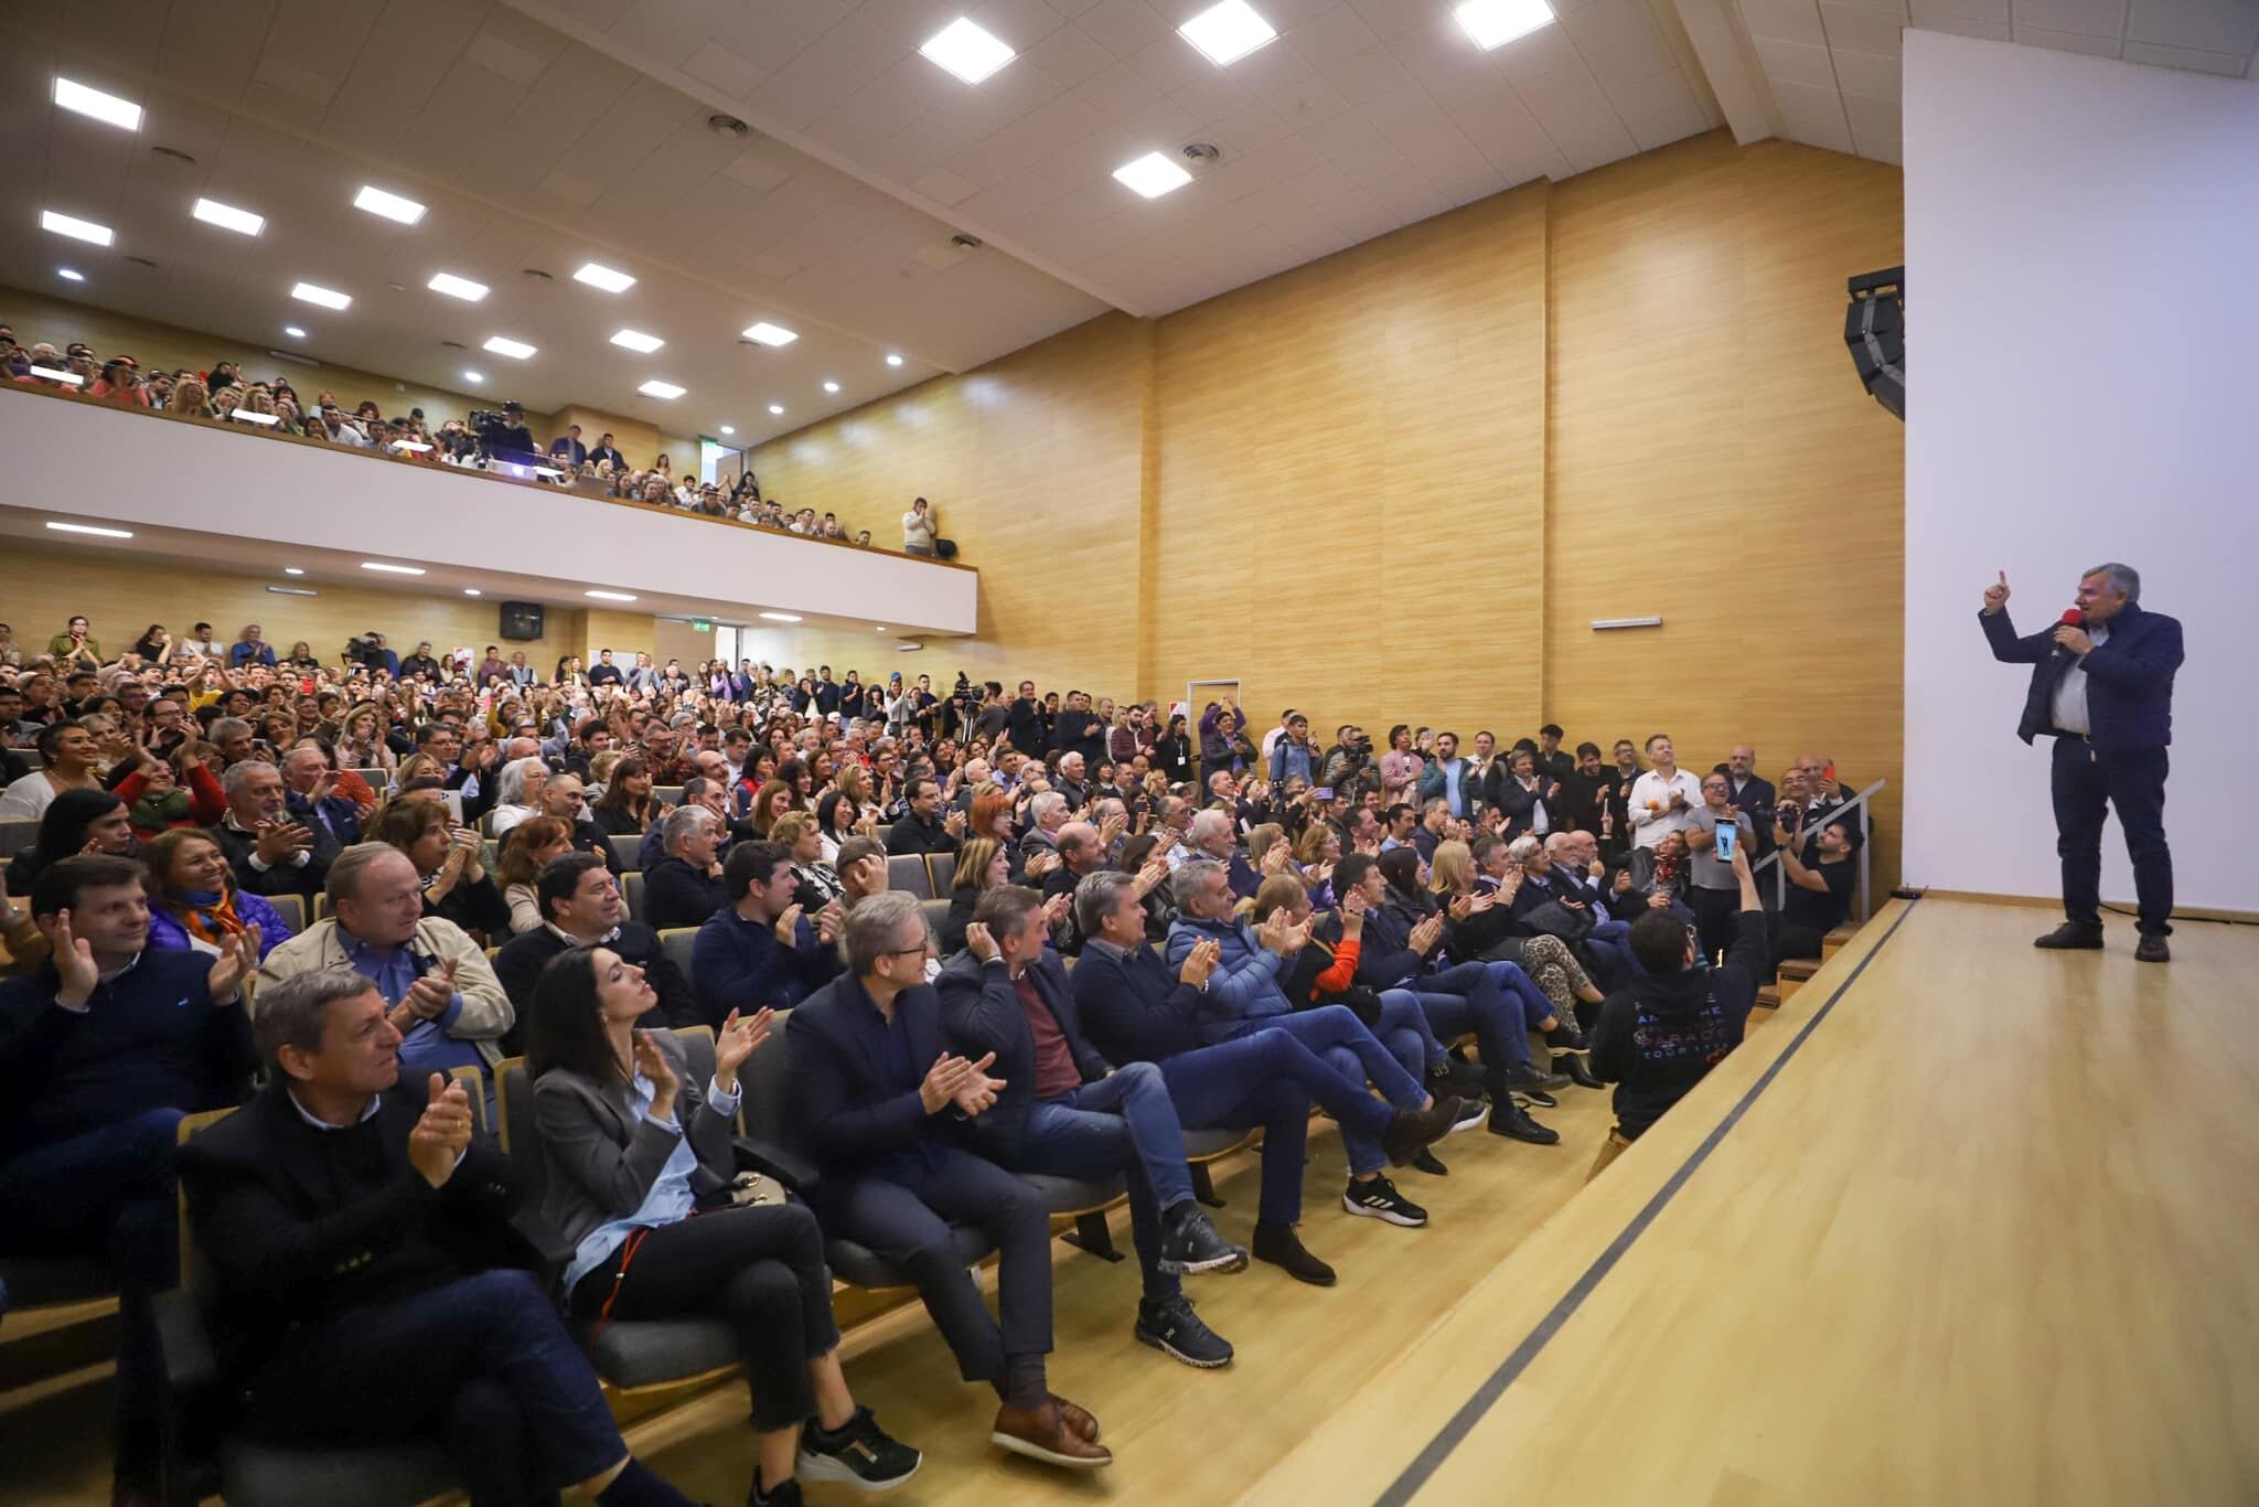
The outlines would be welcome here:
<svg viewBox="0 0 2259 1507">
<path fill-rule="evenodd" d="M 1364 1091 L 1364 1075 L 1344 1078 L 1285 1030 L 1258 1030 L 1179 1053 L 1161 1064 L 1177 1116 L 1195 1130 L 1263 1127 L 1263 1197 L 1256 1218 L 1292 1225 L 1301 1218 L 1301 1161 L 1310 1139 L 1310 1105 L 1342 1125 L 1351 1173 L 1378 1173 L 1387 1161 L 1380 1132 L 1392 1112 Z"/>
</svg>

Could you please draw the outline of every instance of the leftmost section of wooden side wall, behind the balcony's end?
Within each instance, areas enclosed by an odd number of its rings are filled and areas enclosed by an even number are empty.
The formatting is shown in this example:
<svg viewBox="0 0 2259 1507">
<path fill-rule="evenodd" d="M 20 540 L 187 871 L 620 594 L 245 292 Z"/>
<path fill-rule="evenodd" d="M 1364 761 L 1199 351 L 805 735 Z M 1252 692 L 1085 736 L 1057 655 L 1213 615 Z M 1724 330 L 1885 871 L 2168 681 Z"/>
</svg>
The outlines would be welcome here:
<svg viewBox="0 0 2259 1507">
<path fill-rule="evenodd" d="M 1152 325 L 1105 314 L 761 445 L 752 465 L 764 495 L 870 526 L 879 545 L 899 549 L 901 513 L 931 499 L 960 560 L 980 569 L 980 628 L 922 655 L 856 648 L 845 633 L 764 630 L 748 653 L 793 667 L 827 657 L 881 678 L 901 667 L 944 689 L 962 667 L 1123 694 L 1136 680 L 1150 382 Z M 872 626 L 886 621 L 883 603 L 870 610 Z"/>
</svg>

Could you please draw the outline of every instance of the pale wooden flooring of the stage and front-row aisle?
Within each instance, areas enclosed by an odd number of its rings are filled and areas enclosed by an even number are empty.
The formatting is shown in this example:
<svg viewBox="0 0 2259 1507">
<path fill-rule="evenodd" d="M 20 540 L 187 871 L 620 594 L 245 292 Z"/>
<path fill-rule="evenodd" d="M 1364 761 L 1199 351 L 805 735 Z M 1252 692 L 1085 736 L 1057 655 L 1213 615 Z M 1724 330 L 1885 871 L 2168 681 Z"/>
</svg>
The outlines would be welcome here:
<svg viewBox="0 0 2259 1507">
<path fill-rule="evenodd" d="M 1134 1268 L 1059 1247 L 1096 1478 L 989 1448 L 915 1308 L 858 1331 L 858 1399 L 928 1455 L 890 1500 L 2259 1502 L 2259 933 L 2137 967 L 2130 924 L 2065 956 L 2047 920 L 1893 901 L 1590 1188 L 1604 1094 L 1541 1112 L 1559 1148 L 1441 1143 L 1450 1177 L 1398 1177 L 1419 1231 L 1344 1216 L 1312 1134 L 1303 1238 L 1342 1281 L 1190 1279 L 1224 1371 L 1134 1344 Z M 1220 1191 L 1245 1240 L 1251 1159 Z M 0 1498 L 99 1500 L 99 1392 L 0 1417 Z M 734 1502 L 743 1408 L 630 1439 Z"/>
</svg>

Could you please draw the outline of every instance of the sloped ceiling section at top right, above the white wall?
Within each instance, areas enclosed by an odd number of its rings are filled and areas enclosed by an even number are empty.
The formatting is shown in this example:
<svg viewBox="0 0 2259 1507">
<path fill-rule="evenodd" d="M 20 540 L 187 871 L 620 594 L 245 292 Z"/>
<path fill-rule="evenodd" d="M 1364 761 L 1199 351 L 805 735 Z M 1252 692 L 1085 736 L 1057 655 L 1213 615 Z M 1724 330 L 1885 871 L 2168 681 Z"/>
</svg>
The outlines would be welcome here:
<svg viewBox="0 0 2259 1507">
<path fill-rule="evenodd" d="M 1898 163 L 1900 32 L 2259 77 L 2259 0 L 1739 0 L 1780 133 Z"/>
</svg>

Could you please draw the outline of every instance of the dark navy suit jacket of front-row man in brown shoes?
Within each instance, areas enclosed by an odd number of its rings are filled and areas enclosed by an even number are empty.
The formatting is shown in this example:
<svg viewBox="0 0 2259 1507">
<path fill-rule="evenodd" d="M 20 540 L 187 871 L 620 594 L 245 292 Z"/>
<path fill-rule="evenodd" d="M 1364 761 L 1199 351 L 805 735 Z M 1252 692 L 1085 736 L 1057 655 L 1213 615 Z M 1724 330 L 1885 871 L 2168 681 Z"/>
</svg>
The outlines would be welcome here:
<svg viewBox="0 0 2259 1507">
<path fill-rule="evenodd" d="M 886 1019 L 854 974 L 840 974 L 800 1001 L 784 1021 L 791 1051 L 793 1125 L 802 1150 L 831 1173 L 867 1173 L 924 1136 L 962 1143 L 962 1116 L 926 1114 L 917 1082 L 947 1051 L 942 1001 L 919 985 L 895 996 L 895 1019 L 910 1033 L 908 1087 L 886 1073 Z"/>
</svg>

